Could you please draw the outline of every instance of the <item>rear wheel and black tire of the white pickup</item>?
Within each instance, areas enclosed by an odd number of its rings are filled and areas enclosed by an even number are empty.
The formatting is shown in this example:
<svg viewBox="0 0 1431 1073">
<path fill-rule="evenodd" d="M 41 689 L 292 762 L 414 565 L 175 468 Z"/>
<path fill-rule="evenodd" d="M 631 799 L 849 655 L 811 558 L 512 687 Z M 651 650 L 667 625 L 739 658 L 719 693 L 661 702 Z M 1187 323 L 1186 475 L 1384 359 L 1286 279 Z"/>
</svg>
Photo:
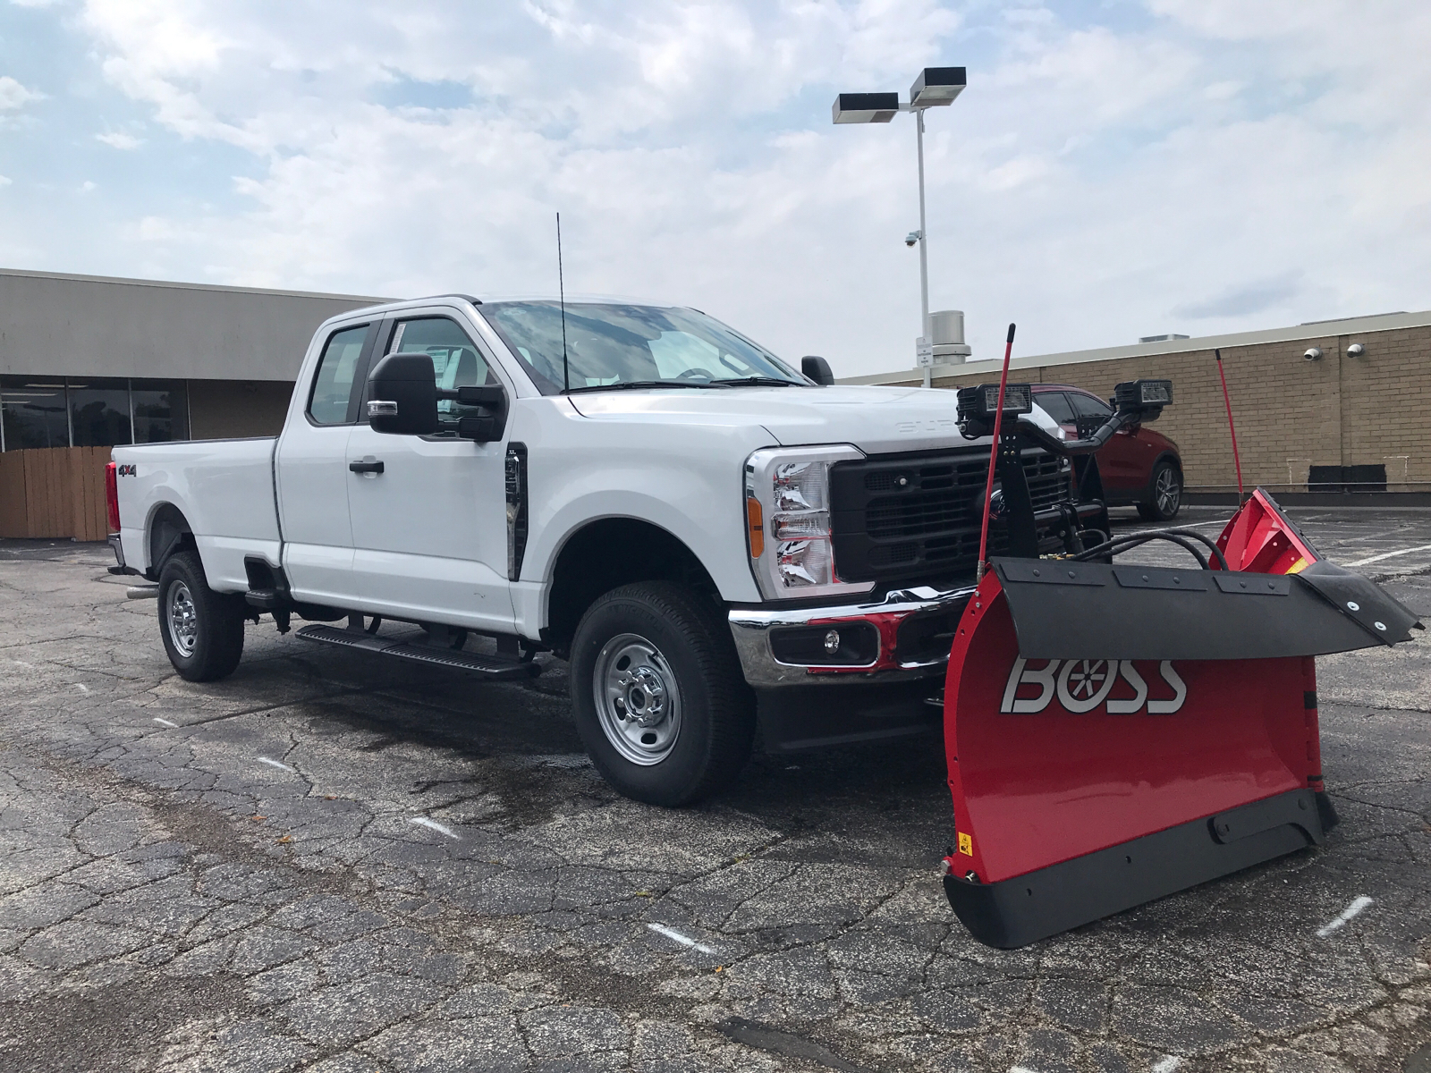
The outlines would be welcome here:
<svg viewBox="0 0 1431 1073">
<path fill-rule="evenodd" d="M 243 597 L 215 592 L 199 552 L 169 557 L 159 571 L 159 635 L 180 678 L 228 678 L 243 655 Z"/>
</svg>

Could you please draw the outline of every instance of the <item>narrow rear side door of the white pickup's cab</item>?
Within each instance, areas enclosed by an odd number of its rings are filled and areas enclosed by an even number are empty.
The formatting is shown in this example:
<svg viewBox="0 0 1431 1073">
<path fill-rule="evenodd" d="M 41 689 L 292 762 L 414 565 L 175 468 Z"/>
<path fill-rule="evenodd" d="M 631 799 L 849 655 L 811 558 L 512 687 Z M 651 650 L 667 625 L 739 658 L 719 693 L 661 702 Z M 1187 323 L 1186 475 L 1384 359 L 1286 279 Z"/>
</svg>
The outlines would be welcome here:
<svg viewBox="0 0 1431 1073">
<path fill-rule="evenodd" d="M 306 385 L 289 408 L 278 441 L 275 488 L 283 534 L 283 569 L 299 599 L 346 607 L 356 595 L 348 521 L 348 436 L 378 322 L 333 329 Z"/>
</svg>

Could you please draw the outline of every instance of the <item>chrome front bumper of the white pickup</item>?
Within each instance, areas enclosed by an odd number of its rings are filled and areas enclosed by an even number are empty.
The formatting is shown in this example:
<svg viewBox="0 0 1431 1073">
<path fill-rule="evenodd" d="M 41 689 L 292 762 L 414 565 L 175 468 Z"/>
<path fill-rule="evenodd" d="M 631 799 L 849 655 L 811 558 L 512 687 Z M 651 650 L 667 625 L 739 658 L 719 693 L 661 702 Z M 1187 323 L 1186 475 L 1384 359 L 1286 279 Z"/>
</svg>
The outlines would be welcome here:
<svg viewBox="0 0 1431 1073">
<path fill-rule="evenodd" d="M 902 660 L 896 650 L 899 628 L 912 617 L 962 609 L 975 587 L 936 589 L 922 585 L 890 592 L 876 604 L 840 604 L 777 609 L 768 607 L 730 611 L 730 632 L 746 681 L 756 688 L 778 685 L 839 685 L 843 682 L 910 681 L 930 678 L 949 664 L 949 652 L 923 660 Z M 776 658 L 770 631 L 780 627 L 820 627 L 869 622 L 879 634 L 879 652 L 864 665 L 788 664 Z"/>
</svg>

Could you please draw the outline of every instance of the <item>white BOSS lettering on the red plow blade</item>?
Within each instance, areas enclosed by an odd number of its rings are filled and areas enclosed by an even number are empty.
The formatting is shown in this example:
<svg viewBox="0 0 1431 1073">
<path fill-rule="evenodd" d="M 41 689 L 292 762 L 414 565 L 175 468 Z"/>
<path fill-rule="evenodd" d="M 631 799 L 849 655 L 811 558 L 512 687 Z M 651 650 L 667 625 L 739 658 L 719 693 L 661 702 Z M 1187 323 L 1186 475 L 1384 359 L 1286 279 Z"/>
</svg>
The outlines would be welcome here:
<svg viewBox="0 0 1431 1073">
<path fill-rule="evenodd" d="M 1029 667 L 1029 661 L 1020 655 L 1009 671 L 999 711 L 1015 714 L 1043 711 L 1056 694 L 1059 707 L 1079 715 L 1093 711 L 1100 704 L 1106 705 L 1109 715 L 1130 715 L 1142 711 L 1145 705 L 1149 715 L 1172 715 L 1188 700 L 1188 685 L 1178 677 L 1172 660 L 1158 664 L 1158 675 L 1162 681 L 1155 680 L 1149 690 L 1148 680 L 1132 660 L 1047 660 L 1043 667 Z M 1122 682 L 1123 688 L 1113 697 L 1113 687 L 1118 682 Z M 1036 695 L 1032 692 L 1035 688 Z M 1168 690 L 1172 691 L 1171 697 L 1151 695 L 1153 691 L 1163 694 Z M 1128 695 L 1129 691 L 1132 697 Z"/>
</svg>

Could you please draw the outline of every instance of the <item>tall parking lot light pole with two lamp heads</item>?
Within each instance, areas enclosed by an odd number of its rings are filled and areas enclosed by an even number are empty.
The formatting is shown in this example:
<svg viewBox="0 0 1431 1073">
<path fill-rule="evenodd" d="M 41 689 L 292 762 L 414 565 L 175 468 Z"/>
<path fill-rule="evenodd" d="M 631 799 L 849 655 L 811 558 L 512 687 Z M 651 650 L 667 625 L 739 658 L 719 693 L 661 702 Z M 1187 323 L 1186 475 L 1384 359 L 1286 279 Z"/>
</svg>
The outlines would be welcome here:
<svg viewBox="0 0 1431 1073">
<path fill-rule="evenodd" d="M 909 103 L 902 104 L 899 93 L 841 93 L 831 109 L 836 123 L 889 123 L 896 112 L 914 113 L 919 142 L 919 230 L 904 236 L 904 245 L 919 245 L 920 333 L 914 340 L 914 361 L 924 371 L 924 386 L 930 385 L 930 371 L 936 361 L 963 361 L 970 351 L 964 346 L 964 315 L 949 309 L 929 313 L 929 253 L 924 225 L 924 109 L 953 104 L 964 90 L 963 67 L 924 67 L 909 87 Z M 943 363 L 943 362 L 940 362 Z"/>
</svg>

